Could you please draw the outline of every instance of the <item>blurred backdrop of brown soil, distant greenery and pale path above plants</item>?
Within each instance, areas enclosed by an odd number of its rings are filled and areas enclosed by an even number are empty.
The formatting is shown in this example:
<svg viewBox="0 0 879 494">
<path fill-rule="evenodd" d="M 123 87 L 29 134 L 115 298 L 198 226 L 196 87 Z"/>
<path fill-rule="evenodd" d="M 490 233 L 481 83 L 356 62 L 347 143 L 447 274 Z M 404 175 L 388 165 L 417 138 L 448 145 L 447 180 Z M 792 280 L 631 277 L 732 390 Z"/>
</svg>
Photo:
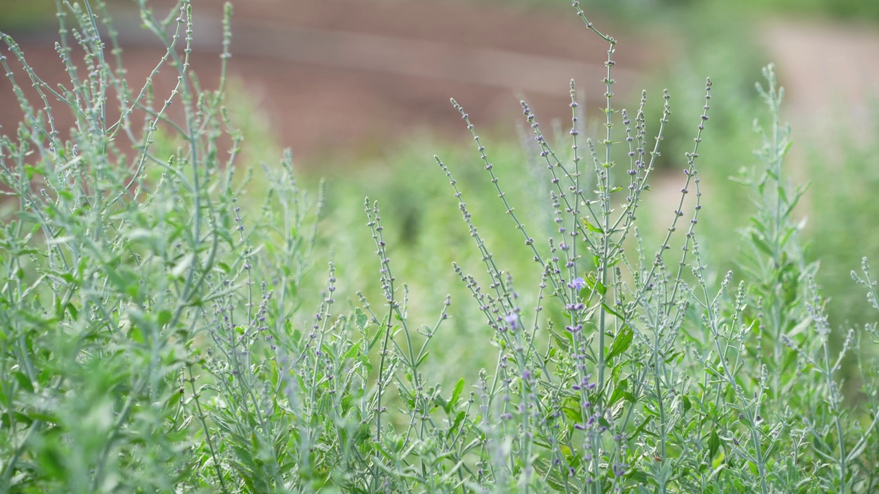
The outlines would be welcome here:
<svg viewBox="0 0 879 494">
<path fill-rule="evenodd" d="M 174 2 L 149 1 L 163 17 Z M 193 68 L 210 81 L 219 67 L 222 4 L 196 0 Z M 362 156 L 386 139 L 460 134 L 448 98 L 484 125 L 512 130 L 525 98 L 548 122 L 567 120 L 567 86 L 601 104 L 606 47 L 568 0 L 244 0 L 235 7 L 232 75 L 263 113 L 269 137 L 303 167 L 328 153 Z M 798 130 L 869 120 L 879 76 L 879 3 L 861 0 L 619 0 L 581 2 L 619 40 L 617 96 L 713 76 L 717 91 L 751 86 L 776 62 Z M 734 5 L 729 5 L 734 4 Z M 161 54 L 141 29 L 136 5 L 111 0 L 129 78 L 149 74 Z M 56 63 L 54 0 L 2 0 L 0 29 L 15 35 L 51 79 Z M 168 75 L 171 77 L 171 75 Z M 735 78 L 733 78 L 735 76 Z M 172 80 L 172 79 L 171 79 Z M 157 88 L 162 87 L 160 77 Z M 681 84 L 683 85 L 683 84 Z M 5 86 L 4 87 L 8 87 Z M 675 88 L 677 89 L 677 88 Z M 699 86 L 676 98 L 699 96 Z M 14 122 L 4 91 L 0 121 Z M 740 102 L 737 102 L 740 103 Z M 683 116 L 683 115 L 681 115 Z M 805 121 L 803 121 L 805 120 Z M 861 127 L 858 120 L 854 123 Z M 340 143 L 344 142 L 344 146 Z"/>
</svg>

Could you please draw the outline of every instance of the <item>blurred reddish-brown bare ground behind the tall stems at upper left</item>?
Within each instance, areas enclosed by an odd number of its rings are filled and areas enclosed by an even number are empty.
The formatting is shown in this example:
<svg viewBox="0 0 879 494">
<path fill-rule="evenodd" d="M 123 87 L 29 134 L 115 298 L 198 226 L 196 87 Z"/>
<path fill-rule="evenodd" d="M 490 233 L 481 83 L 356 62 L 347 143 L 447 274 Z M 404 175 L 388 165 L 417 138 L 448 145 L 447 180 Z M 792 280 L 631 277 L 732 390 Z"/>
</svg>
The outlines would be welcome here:
<svg viewBox="0 0 879 494">
<path fill-rule="evenodd" d="M 156 5 L 156 13 L 168 7 Z M 170 5 L 170 4 L 167 4 Z M 193 69 L 210 88 L 219 72 L 219 2 L 194 7 Z M 128 80 L 143 81 L 163 50 L 138 28 L 132 12 L 118 11 Z M 621 44 L 614 86 L 630 93 L 633 72 L 656 60 L 645 40 L 602 22 Z M 423 127 L 461 136 L 466 129 L 449 105 L 456 98 L 483 129 L 496 124 L 514 135 L 519 99 L 542 121 L 569 119 L 568 84 L 578 80 L 592 105 L 601 103 L 607 43 L 572 10 L 522 10 L 463 3 L 381 0 L 249 0 L 233 18 L 230 73 L 242 85 L 230 98 L 258 104 L 273 137 L 291 146 L 300 163 L 325 151 L 381 149 L 384 142 Z M 51 84 L 65 74 L 51 31 L 19 37 L 28 62 Z M 4 50 L 5 52 L 5 50 Z M 19 83 L 25 75 L 12 61 Z M 156 79 L 166 98 L 175 74 Z M 68 81 L 69 83 L 69 81 Z M 243 89 L 242 89 L 243 88 Z M 29 88 L 28 88 L 29 89 Z M 36 101 L 33 91 L 29 91 Z M 41 105 L 40 105 L 41 106 Z M 59 110 L 60 105 L 59 106 Z M 60 127 L 72 120 L 56 111 Z M 9 133 L 20 117 L 10 84 L 0 78 L 0 125 Z M 500 123 L 498 123 L 500 122 Z"/>
</svg>

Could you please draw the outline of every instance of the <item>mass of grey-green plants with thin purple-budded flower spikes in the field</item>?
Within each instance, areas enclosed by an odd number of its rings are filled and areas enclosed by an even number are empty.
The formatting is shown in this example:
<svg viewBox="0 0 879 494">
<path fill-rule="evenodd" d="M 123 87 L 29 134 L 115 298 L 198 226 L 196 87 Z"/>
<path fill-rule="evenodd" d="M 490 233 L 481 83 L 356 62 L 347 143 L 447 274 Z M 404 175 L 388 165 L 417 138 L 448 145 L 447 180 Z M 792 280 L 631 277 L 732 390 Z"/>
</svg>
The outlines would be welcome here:
<svg viewBox="0 0 879 494">
<path fill-rule="evenodd" d="M 732 160 L 750 107 L 710 80 L 681 98 L 695 112 L 660 92 L 650 117 L 653 91 L 617 107 L 614 41 L 575 3 L 611 48 L 593 135 L 573 84 L 564 136 L 523 102 L 524 149 L 453 101 L 468 154 L 413 143 L 409 175 L 312 189 L 289 153 L 243 161 L 259 133 L 229 117 L 224 73 L 205 91 L 191 72 L 193 5 L 141 7 L 179 75 L 168 94 L 105 58 L 102 4 L 61 17 L 61 88 L 3 35 L 24 119 L 0 134 L 0 491 L 879 487 L 879 334 L 827 316 L 771 65 L 756 160 Z M 675 204 L 651 207 L 662 145 L 686 129 L 663 164 Z M 746 164 L 734 220 L 715 221 L 731 185 L 711 159 Z M 849 270 L 879 310 L 868 259 Z"/>
</svg>

